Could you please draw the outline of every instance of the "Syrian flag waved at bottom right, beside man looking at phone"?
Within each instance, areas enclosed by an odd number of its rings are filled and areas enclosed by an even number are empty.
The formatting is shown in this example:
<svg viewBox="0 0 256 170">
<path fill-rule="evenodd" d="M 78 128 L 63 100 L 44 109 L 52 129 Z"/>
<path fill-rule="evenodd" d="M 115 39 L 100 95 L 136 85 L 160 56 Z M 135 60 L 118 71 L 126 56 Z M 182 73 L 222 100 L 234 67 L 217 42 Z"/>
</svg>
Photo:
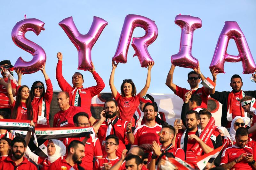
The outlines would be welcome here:
<svg viewBox="0 0 256 170">
<path fill-rule="evenodd" d="M 227 142 L 226 142 L 227 143 Z M 197 158 L 197 163 L 196 165 L 198 166 L 198 168 L 200 170 L 204 169 L 207 162 L 209 161 L 209 159 L 211 158 L 215 158 L 220 154 L 221 150 L 223 149 L 223 147 L 226 145 L 226 143 L 218 148 L 216 148 L 215 150 L 213 150 L 212 152 L 209 152 L 207 154 L 204 154 L 203 156 L 200 156 Z M 212 164 L 214 163 L 214 160 L 212 161 Z"/>
</svg>

